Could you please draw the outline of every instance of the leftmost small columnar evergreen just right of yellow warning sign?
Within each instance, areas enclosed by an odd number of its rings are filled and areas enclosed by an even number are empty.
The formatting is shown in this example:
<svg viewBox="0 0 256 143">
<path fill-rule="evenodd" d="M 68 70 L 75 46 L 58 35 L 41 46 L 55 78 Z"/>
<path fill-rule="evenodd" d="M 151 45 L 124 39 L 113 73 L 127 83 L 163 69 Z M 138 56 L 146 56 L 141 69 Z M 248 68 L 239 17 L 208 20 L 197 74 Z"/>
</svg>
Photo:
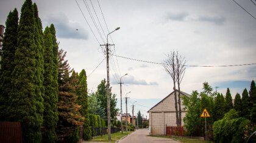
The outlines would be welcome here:
<svg viewBox="0 0 256 143">
<path fill-rule="evenodd" d="M 213 116 L 213 118 L 215 118 L 215 121 L 218 121 L 220 119 L 222 119 L 224 117 L 225 114 L 225 100 L 223 95 L 219 94 L 216 96 L 215 98 L 215 116 Z"/>
</svg>

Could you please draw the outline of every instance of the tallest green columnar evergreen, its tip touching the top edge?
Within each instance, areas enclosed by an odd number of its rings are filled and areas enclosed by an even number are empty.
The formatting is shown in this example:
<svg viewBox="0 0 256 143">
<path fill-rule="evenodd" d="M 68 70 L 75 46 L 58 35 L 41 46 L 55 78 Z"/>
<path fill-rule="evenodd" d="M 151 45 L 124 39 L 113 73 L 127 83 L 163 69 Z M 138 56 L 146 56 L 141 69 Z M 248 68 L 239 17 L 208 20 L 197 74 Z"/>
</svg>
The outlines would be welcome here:
<svg viewBox="0 0 256 143">
<path fill-rule="evenodd" d="M 21 8 L 18 25 L 18 48 L 15 52 L 13 70 L 13 88 L 10 96 L 10 118 L 20 121 L 23 127 L 23 142 L 41 142 L 43 124 L 43 98 L 41 96 L 41 49 L 35 41 L 34 7 L 31 0 L 26 0 Z"/>
</svg>

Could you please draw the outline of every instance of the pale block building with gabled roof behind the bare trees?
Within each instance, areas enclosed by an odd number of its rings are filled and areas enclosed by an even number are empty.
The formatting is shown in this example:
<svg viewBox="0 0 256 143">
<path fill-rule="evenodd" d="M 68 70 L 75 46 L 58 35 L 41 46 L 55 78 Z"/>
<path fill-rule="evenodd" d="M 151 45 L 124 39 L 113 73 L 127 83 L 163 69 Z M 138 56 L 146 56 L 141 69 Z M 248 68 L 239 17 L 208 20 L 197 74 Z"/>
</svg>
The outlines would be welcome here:
<svg viewBox="0 0 256 143">
<path fill-rule="evenodd" d="M 178 95 L 178 90 L 176 93 Z M 187 96 L 188 93 L 180 91 L 181 96 Z M 177 98 L 178 99 L 178 98 Z M 182 103 L 182 99 L 180 99 Z M 184 106 L 181 105 L 183 109 Z M 185 117 L 187 111 L 182 110 L 182 126 L 183 118 Z M 154 107 L 149 111 L 149 132 L 151 135 L 166 135 L 166 126 L 177 126 L 176 124 L 176 110 L 175 110 L 175 100 L 174 100 L 174 91 L 171 94 L 166 96 L 162 101 L 158 102 Z"/>
</svg>

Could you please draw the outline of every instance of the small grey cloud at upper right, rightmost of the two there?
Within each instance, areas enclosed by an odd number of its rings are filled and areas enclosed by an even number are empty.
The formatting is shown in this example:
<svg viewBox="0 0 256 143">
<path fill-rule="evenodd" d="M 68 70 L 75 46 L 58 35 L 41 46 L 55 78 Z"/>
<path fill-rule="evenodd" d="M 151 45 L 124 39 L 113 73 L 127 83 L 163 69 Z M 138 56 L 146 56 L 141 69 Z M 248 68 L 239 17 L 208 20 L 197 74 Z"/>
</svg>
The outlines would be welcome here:
<svg viewBox="0 0 256 143">
<path fill-rule="evenodd" d="M 226 18 L 224 18 L 223 16 L 221 16 L 221 17 L 217 17 L 217 16 L 199 16 L 197 21 L 211 22 L 211 23 L 216 24 L 216 25 L 223 25 L 224 22 L 226 21 Z"/>
</svg>

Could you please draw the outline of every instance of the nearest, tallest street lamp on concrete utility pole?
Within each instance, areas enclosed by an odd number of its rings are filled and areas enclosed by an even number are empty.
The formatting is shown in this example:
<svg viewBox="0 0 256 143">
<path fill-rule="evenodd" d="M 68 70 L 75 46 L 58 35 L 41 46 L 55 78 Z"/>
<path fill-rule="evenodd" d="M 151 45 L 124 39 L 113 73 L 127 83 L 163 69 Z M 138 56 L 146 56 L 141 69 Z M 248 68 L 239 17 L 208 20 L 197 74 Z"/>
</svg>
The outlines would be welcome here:
<svg viewBox="0 0 256 143">
<path fill-rule="evenodd" d="M 115 32 L 116 30 L 118 30 L 120 27 L 115 28 L 115 30 L 113 30 L 113 32 Z M 108 141 L 111 141 L 111 126 L 110 126 L 110 95 L 109 95 L 109 65 L 108 65 L 108 35 L 110 35 L 110 32 L 107 34 L 107 129 L 108 129 Z"/>
</svg>

